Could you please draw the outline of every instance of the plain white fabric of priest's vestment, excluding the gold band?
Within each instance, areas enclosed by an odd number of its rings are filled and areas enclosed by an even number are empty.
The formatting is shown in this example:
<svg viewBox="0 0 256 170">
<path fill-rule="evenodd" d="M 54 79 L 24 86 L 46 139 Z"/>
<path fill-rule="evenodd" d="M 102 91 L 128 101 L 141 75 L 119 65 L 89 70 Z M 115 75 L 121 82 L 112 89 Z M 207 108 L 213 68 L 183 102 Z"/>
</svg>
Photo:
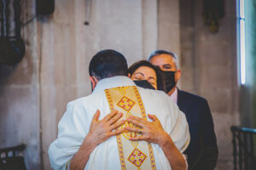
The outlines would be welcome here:
<svg viewBox="0 0 256 170">
<path fill-rule="evenodd" d="M 68 161 L 79 150 L 90 130 L 90 122 L 100 110 L 99 120 L 110 112 L 104 89 L 122 86 L 136 86 L 128 77 L 110 77 L 97 83 L 93 93 L 67 104 L 67 111 L 58 125 L 58 137 L 49 146 L 49 160 L 54 169 L 65 169 Z M 161 91 L 138 88 L 146 113 L 158 117 L 162 127 L 171 135 L 177 149 L 183 152 L 189 144 L 189 127 L 186 117 L 168 95 Z M 151 121 L 148 119 L 148 121 Z M 125 146 L 123 146 L 125 147 Z M 158 144 L 152 144 L 157 169 L 171 170 L 164 151 Z M 116 137 L 113 136 L 96 146 L 90 153 L 85 170 L 121 169 Z"/>
</svg>

